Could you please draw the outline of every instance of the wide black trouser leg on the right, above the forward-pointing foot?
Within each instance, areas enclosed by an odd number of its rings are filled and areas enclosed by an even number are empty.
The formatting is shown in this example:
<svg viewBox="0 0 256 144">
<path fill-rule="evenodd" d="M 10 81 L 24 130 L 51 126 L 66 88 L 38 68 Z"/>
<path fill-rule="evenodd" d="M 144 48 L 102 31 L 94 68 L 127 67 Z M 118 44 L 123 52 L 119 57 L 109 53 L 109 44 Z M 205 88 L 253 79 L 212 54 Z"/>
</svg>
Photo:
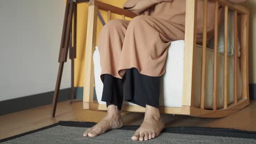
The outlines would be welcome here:
<svg viewBox="0 0 256 144">
<path fill-rule="evenodd" d="M 160 76 L 143 75 L 137 68 L 126 69 L 125 75 L 126 101 L 142 107 L 159 108 Z"/>
</svg>

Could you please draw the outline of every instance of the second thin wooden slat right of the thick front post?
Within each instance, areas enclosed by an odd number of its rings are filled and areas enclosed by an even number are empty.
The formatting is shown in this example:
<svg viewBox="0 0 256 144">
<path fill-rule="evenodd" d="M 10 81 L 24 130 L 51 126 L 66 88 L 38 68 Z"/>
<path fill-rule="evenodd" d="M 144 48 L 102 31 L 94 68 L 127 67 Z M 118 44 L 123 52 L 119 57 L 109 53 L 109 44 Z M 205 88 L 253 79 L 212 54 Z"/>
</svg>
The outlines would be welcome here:
<svg viewBox="0 0 256 144">
<path fill-rule="evenodd" d="M 218 33 L 219 33 L 219 1 L 215 2 L 215 28 L 214 28 L 214 68 L 213 68 L 213 110 L 217 110 L 218 91 Z"/>
</svg>

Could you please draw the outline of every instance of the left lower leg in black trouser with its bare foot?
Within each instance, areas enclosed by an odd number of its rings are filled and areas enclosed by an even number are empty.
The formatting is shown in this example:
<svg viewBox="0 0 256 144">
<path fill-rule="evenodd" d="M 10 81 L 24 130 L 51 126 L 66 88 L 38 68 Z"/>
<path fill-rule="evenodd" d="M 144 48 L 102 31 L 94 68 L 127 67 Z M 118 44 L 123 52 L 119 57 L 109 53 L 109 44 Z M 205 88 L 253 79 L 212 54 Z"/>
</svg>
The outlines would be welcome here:
<svg viewBox="0 0 256 144">
<path fill-rule="evenodd" d="M 109 129 L 123 126 L 121 106 L 123 104 L 123 79 L 104 74 L 102 101 L 107 103 L 107 116 L 94 127 L 85 131 L 84 136 L 94 137 L 105 133 Z"/>
</svg>

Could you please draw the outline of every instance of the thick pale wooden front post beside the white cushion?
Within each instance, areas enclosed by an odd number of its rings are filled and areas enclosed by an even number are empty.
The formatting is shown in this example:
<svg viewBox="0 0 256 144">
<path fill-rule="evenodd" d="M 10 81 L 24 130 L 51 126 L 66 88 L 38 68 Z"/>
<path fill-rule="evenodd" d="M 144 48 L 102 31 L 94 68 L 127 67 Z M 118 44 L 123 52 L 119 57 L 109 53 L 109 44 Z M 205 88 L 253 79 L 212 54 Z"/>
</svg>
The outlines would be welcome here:
<svg viewBox="0 0 256 144">
<path fill-rule="evenodd" d="M 182 105 L 194 106 L 197 0 L 186 0 Z"/>
</svg>

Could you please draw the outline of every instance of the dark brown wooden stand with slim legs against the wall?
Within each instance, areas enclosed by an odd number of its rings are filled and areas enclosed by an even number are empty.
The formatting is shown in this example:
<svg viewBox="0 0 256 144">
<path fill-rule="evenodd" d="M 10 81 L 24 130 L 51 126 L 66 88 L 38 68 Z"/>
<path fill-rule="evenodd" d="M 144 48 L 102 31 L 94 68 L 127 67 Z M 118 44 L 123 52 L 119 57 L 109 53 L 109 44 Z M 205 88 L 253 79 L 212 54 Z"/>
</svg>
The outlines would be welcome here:
<svg viewBox="0 0 256 144">
<path fill-rule="evenodd" d="M 74 58 L 76 58 L 77 48 L 77 4 L 82 2 L 88 2 L 89 0 L 67 0 L 65 17 L 63 22 L 61 46 L 59 53 L 59 71 L 57 75 L 57 81 L 55 86 L 54 98 L 53 98 L 53 117 L 55 117 L 57 100 L 60 92 L 61 77 L 63 72 L 64 63 L 67 62 L 67 53 L 69 49 L 69 59 L 71 59 L 71 103 L 74 100 Z M 72 25 L 74 15 L 74 23 Z M 72 47 L 72 26 L 74 28 L 74 38 Z"/>
</svg>

